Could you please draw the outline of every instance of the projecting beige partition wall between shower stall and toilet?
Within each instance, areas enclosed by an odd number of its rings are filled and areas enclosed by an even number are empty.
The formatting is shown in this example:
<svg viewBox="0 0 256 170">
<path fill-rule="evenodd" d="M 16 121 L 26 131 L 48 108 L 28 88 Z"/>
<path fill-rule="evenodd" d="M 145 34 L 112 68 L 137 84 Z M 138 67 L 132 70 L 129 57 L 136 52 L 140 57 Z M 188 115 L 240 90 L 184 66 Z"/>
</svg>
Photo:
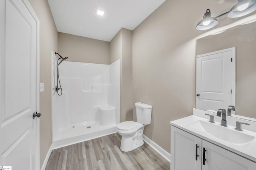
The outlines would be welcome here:
<svg viewBox="0 0 256 170">
<path fill-rule="evenodd" d="M 110 63 L 120 59 L 120 122 L 132 120 L 132 31 L 120 29 L 110 41 Z"/>
</svg>

